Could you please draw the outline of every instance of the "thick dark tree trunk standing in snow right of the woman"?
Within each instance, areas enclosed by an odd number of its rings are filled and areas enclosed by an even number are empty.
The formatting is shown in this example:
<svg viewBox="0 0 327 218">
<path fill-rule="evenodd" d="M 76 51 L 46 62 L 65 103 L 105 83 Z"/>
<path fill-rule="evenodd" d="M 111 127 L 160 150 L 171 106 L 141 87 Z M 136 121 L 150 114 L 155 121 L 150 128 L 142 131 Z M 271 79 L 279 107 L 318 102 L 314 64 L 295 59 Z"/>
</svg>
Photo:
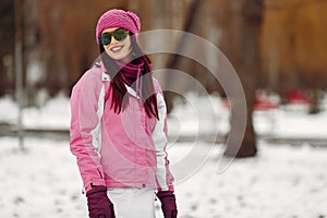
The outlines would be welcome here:
<svg viewBox="0 0 327 218">
<path fill-rule="evenodd" d="M 253 104 L 255 98 L 255 89 L 257 86 L 256 78 L 261 72 L 259 61 L 259 34 L 263 17 L 263 0 L 243 0 L 241 8 L 241 19 L 239 33 L 234 33 L 232 40 L 237 43 L 233 48 L 232 64 L 234 65 L 240 80 L 242 82 L 246 104 L 247 104 L 247 122 L 245 129 L 244 140 L 239 149 L 235 146 L 228 145 L 225 156 L 232 157 L 252 157 L 256 155 L 256 135 L 253 128 L 252 114 Z M 231 119 L 234 118 L 233 110 Z"/>
</svg>

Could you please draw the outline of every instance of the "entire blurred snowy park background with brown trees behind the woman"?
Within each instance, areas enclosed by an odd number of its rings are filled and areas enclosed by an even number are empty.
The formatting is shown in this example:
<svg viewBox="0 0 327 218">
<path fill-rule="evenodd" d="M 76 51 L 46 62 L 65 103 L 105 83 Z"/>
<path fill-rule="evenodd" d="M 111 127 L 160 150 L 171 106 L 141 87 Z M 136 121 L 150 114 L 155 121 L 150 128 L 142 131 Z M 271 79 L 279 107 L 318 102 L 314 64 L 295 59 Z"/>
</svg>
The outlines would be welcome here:
<svg viewBox="0 0 327 218">
<path fill-rule="evenodd" d="M 229 134 L 240 105 L 213 76 L 219 69 L 150 55 L 154 70 L 182 71 L 207 92 L 156 74 L 162 87 L 183 87 L 165 93 L 181 218 L 327 217 L 327 0 L 1 0 L 0 217 L 87 216 L 69 152 L 69 98 L 99 55 L 97 20 L 113 8 L 138 14 L 142 32 L 203 37 L 228 58 L 244 88 L 244 138 L 226 143 L 243 133 Z M 143 41 L 150 44 L 219 61 L 183 37 Z M 158 202 L 156 213 L 162 217 Z"/>
</svg>

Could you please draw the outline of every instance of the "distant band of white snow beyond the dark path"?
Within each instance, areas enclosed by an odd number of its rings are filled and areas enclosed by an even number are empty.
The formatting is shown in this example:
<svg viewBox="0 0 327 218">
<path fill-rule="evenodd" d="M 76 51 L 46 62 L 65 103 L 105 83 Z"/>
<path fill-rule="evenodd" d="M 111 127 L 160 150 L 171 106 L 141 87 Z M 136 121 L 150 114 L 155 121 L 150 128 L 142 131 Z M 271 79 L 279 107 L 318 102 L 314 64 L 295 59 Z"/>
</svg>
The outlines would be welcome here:
<svg viewBox="0 0 327 218">
<path fill-rule="evenodd" d="M 10 97 L 0 99 L 0 123 L 15 124 L 19 109 Z M 259 135 L 294 138 L 327 137 L 327 94 L 322 101 L 323 112 L 307 114 L 305 107 L 296 110 L 280 107 L 271 110 L 255 111 L 254 128 Z M 8 112 L 10 111 L 10 112 Z M 26 129 L 69 130 L 70 102 L 59 95 L 43 108 L 26 108 L 22 119 Z M 219 97 L 202 97 L 187 94 L 184 99 L 175 101 L 169 114 L 169 133 L 171 135 L 194 135 L 218 133 L 227 134 L 229 109 Z"/>
</svg>

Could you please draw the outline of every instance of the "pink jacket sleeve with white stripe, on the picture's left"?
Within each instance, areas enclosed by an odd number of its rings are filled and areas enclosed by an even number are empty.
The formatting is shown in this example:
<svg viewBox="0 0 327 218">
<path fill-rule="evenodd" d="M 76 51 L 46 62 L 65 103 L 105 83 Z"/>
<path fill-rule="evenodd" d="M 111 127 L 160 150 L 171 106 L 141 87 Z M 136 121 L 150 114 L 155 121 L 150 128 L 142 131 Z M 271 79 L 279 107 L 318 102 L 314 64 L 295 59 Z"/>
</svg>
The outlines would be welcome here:
<svg viewBox="0 0 327 218">
<path fill-rule="evenodd" d="M 92 185 L 106 185 L 99 155 L 104 93 L 102 81 L 88 71 L 71 95 L 70 148 L 76 156 L 86 192 Z"/>
</svg>

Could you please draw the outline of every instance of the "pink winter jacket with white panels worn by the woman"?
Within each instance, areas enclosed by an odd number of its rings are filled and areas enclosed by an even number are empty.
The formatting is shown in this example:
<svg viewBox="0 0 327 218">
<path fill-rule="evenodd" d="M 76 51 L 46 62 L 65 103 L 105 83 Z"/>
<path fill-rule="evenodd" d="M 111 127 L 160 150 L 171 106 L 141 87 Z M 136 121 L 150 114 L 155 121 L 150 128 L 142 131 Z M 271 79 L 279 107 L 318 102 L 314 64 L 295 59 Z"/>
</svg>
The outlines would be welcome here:
<svg viewBox="0 0 327 218">
<path fill-rule="evenodd" d="M 159 120 L 147 117 L 128 85 L 128 107 L 119 114 L 110 110 L 110 81 L 102 64 L 88 70 L 73 87 L 70 148 L 86 191 L 92 185 L 173 191 L 166 153 L 166 104 L 160 85 L 153 81 Z"/>
</svg>

